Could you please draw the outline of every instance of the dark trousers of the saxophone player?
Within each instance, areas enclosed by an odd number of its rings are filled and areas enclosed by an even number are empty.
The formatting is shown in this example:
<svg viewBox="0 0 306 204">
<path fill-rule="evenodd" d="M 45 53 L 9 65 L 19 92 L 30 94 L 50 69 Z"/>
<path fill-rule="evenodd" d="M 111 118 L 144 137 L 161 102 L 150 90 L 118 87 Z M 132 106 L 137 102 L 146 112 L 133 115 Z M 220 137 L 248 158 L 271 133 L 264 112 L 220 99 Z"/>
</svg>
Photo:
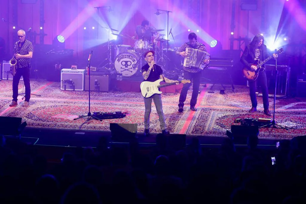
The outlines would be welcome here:
<svg viewBox="0 0 306 204">
<path fill-rule="evenodd" d="M 31 96 L 31 87 L 30 87 L 30 68 L 21 67 L 16 69 L 16 74 L 13 76 L 13 101 L 17 102 L 18 97 L 18 84 L 19 80 L 23 76 L 23 82 L 25 86 L 25 101 L 29 102 Z"/>
</svg>

